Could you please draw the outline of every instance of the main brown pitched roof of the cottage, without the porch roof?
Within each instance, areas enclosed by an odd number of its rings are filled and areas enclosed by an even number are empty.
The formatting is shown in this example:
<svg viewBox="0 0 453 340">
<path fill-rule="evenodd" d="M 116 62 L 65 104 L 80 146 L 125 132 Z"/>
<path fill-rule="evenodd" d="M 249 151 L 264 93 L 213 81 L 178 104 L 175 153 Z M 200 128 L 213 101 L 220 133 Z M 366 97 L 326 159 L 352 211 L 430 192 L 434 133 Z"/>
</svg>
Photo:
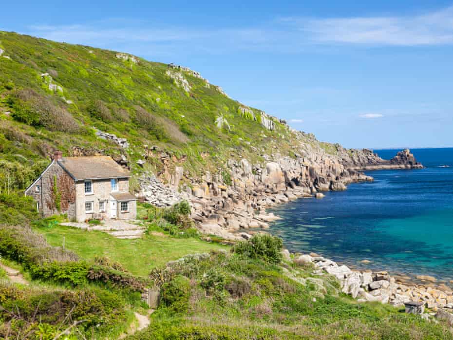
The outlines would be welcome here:
<svg viewBox="0 0 453 340">
<path fill-rule="evenodd" d="M 76 180 L 128 178 L 131 174 L 110 156 L 63 157 L 58 164 Z"/>
</svg>

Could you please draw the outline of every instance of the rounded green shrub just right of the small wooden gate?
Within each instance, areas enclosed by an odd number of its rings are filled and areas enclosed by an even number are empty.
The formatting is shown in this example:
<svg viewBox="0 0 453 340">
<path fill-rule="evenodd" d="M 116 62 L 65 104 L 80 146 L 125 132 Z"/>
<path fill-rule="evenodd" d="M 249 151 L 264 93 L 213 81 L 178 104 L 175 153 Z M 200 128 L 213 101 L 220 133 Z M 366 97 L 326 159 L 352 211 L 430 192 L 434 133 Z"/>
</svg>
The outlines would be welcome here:
<svg viewBox="0 0 453 340">
<path fill-rule="evenodd" d="M 169 283 L 164 283 L 161 291 L 161 302 L 177 313 L 183 313 L 189 308 L 190 282 L 189 279 L 178 275 Z"/>
</svg>

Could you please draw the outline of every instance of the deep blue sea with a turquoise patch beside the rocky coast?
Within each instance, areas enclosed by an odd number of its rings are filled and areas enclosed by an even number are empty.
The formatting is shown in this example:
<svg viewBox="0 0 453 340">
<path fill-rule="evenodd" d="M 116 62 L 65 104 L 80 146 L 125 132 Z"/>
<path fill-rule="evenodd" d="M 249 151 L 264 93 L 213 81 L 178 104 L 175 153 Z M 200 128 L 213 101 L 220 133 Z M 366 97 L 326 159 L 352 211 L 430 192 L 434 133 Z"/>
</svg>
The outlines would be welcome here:
<svg viewBox="0 0 453 340">
<path fill-rule="evenodd" d="M 389 159 L 397 151 L 375 152 Z M 283 217 L 270 232 L 291 251 L 453 280 L 453 148 L 411 152 L 426 169 L 365 171 L 374 182 L 269 209 Z"/>
</svg>

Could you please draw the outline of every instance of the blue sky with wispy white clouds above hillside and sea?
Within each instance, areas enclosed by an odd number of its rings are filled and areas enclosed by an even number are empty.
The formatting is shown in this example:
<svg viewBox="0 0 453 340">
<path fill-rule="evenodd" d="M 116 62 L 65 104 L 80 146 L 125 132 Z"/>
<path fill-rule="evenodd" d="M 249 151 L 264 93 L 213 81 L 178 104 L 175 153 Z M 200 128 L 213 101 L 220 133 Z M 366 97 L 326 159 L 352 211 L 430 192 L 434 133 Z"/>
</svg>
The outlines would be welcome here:
<svg viewBox="0 0 453 340">
<path fill-rule="evenodd" d="M 346 147 L 453 146 L 453 2 L 5 1 L 0 30 L 200 72 Z"/>
</svg>

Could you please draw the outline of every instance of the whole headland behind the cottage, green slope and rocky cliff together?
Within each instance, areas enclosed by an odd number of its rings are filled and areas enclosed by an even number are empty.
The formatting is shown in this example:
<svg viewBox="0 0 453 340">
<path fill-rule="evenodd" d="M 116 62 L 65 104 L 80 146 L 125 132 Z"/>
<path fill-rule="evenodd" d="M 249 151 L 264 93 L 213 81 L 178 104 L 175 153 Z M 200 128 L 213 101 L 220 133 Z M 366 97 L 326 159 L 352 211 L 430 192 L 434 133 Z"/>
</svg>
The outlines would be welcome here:
<svg viewBox="0 0 453 340">
<path fill-rule="evenodd" d="M 0 190 L 26 188 L 55 150 L 113 156 L 137 194 L 186 197 L 224 236 L 265 227 L 271 204 L 371 180 L 357 170 L 421 166 L 319 142 L 185 67 L 0 32 Z"/>
</svg>

